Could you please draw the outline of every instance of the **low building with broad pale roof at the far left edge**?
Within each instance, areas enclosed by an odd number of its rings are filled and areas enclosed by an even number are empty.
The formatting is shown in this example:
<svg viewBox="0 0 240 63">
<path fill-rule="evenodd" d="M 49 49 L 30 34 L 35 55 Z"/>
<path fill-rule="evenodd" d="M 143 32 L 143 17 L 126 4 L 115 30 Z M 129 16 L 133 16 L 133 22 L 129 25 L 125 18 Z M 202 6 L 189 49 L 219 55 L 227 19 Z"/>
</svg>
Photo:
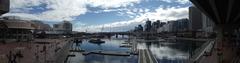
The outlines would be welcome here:
<svg viewBox="0 0 240 63">
<path fill-rule="evenodd" d="M 35 25 L 27 20 L 2 19 L 0 20 L 0 40 L 8 42 L 30 41 Z"/>
</svg>

